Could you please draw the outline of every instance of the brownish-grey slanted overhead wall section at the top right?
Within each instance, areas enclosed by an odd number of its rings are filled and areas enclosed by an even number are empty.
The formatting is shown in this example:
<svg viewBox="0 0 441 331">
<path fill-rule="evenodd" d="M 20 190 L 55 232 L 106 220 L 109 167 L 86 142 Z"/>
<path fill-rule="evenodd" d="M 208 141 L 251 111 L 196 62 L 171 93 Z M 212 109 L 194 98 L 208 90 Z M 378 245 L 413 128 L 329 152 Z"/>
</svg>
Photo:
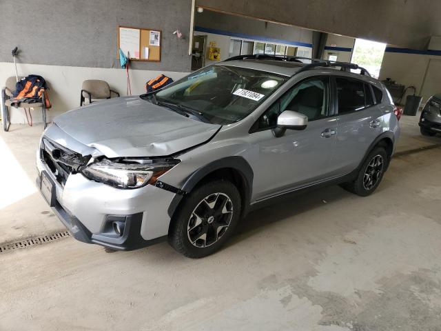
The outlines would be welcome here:
<svg viewBox="0 0 441 331">
<path fill-rule="evenodd" d="M 196 0 L 198 6 L 424 49 L 441 35 L 439 0 Z"/>
</svg>

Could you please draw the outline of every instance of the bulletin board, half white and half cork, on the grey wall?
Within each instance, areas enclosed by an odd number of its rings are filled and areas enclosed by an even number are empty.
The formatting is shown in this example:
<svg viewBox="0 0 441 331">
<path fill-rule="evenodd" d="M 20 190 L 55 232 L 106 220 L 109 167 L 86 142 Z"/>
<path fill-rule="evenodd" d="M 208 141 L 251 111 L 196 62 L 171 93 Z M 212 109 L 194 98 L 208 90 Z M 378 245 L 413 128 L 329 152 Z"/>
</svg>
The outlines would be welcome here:
<svg viewBox="0 0 441 331">
<path fill-rule="evenodd" d="M 162 31 L 155 29 L 133 28 L 130 26 L 118 27 L 118 48 L 125 56 L 129 54 L 131 61 L 161 61 Z"/>
</svg>

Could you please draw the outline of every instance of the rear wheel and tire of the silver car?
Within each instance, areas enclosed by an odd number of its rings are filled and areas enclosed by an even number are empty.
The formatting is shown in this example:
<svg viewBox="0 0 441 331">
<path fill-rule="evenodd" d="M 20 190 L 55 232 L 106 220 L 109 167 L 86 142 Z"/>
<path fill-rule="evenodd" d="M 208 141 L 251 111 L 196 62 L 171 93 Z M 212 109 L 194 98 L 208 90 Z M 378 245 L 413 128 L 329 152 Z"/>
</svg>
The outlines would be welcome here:
<svg viewBox="0 0 441 331">
<path fill-rule="evenodd" d="M 360 197 L 367 197 L 380 185 L 388 163 L 386 150 L 382 147 L 374 148 L 360 167 L 355 181 L 344 183 L 341 187 Z"/>
</svg>

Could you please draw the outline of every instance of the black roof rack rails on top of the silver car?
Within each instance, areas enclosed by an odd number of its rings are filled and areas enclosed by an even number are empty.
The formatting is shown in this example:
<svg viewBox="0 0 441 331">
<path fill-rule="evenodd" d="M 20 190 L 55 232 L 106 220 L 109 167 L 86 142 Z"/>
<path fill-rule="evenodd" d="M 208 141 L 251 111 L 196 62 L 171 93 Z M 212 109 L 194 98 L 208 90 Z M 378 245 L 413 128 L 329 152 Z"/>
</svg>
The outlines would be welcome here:
<svg viewBox="0 0 441 331">
<path fill-rule="evenodd" d="M 237 55 L 236 57 L 230 57 L 229 59 L 226 59 L 225 61 L 234 61 L 234 60 L 247 60 L 247 59 L 254 59 L 254 60 L 276 60 L 276 61 L 288 61 L 288 62 L 298 62 L 298 63 L 305 63 L 300 60 L 308 60 L 311 61 L 311 63 L 307 63 L 306 66 L 303 66 L 296 72 L 295 74 L 298 74 L 300 72 L 304 72 L 306 70 L 311 70 L 316 67 L 340 67 L 340 70 L 342 71 L 348 71 L 348 70 L 360 70 L 360 74 L 371 77 L 371 74 L 365 69 L 356 63 L 349 63 L 349 62 L 338 62 L 338 61 L 329 61 L 329 60 L 321 60 L 321 59 L 311 59 L 309 57 L 287 57 L 285 55 L 269 55 L 269 54 L 247 54 L 247 55 Z"/>
</svg>

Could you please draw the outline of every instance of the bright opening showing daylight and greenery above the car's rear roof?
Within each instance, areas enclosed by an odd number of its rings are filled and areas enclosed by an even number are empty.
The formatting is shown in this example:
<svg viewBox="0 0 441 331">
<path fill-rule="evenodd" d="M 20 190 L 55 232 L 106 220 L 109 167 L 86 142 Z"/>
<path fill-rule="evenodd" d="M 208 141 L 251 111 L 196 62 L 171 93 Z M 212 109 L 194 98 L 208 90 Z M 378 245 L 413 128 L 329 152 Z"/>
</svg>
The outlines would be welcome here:
<svg viewBox="0 0 441 331">
<path fill-rule="evenodd" d="M 378 76 L 380 76 L 384 50 L 386 50 L 385 43 L 356 39 L 356 43 L 353 46 L 351 62 L 366 68 L 373 77 L 378 78 Z"/>
</svg>

